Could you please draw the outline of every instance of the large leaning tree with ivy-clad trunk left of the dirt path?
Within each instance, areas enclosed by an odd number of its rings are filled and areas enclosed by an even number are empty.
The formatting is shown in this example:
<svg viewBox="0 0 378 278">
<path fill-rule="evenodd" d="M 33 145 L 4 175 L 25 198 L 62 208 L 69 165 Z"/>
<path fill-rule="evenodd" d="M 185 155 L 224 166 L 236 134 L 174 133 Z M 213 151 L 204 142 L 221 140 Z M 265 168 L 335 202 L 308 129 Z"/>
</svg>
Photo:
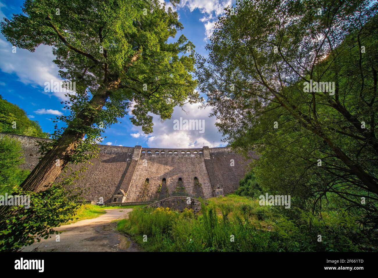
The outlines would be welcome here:
<svg viewBox="0 0 378 278">
<path fill-rule="evenodd" d="M 52 46 L 60 76 L 76 84 L 65 102 L 70 116 L 58 117 L 67 127 L 41 145 L 24 190 L 46 190 L 68 163 L 87 160 L 103 128 L 129 108 L 132 123 L 150 133 L 149 112 L 166 120 L 175 106 L 200 100 L 191 75 L 194 45 L 183 35 L 167 42 L 183 26 L 160 1 L 26 0 L 22 11 L 1 23 L 6 39 L 31 52 Z"/>
</svg>

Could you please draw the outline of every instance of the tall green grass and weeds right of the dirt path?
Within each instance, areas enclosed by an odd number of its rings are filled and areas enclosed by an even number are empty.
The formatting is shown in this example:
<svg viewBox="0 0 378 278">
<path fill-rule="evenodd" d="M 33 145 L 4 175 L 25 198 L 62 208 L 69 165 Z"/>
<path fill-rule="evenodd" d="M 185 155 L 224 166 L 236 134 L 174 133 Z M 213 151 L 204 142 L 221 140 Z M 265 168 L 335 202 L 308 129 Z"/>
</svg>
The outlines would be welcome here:
<svg viewBox="0 0 378 278">
<path fill-rule="evenodd" d="M 294 223 L 274 207 L 237 195 L 211 198 L 197 215 L 191 210 L 136 208 L 117 224 L 141 249 L 152 252 L 358 250 L 337 228 L 335 224 L 329 229 L 309 215 Z M 326 241 L 316 240 L 319 233 Z"/>
</svg>

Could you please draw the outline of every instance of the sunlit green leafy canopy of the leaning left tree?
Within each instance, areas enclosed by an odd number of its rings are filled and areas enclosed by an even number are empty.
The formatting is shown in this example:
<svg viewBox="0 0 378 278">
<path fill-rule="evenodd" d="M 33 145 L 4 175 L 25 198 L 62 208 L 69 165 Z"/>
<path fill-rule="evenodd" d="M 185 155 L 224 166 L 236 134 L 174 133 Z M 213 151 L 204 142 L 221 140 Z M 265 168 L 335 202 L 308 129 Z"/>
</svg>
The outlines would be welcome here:
<svg viewBox="0 0 378 278">
<path fill-rule="evenodd" d="M 177 12 L 166 12 L 158 0 L 26 0 L 22 10 L 1 23 L 5 37 L 29 51 L 53 46 L 60 75 L 76 82 L 79 95 L 104 86 L 113 90 L 106 105 L 113 112 L 102 115 L 105 120 L 115 122 L 135 102 L 132 122 L 149 133 L 147 112 L 169 119 L 175 105 L 197 99 L 188 73 L 194 70 L 194 45 L 183 35 L 167 43 L 183 26 Z M 189 56 L 179 56 L 188 49 Z"/>
</svg>

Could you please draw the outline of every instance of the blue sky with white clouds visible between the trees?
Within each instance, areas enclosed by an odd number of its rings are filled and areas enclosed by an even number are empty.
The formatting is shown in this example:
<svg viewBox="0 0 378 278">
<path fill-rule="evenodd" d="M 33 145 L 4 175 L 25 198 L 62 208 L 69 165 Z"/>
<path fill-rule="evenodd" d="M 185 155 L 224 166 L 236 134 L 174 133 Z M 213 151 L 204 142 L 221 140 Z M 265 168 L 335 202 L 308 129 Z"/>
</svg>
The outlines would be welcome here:
<svg viewBox="0 0 378 278">
<path fill-rule="evenodd" d="M 162 2 L 163 0 L 161 0 Z M 166 1 L 167 2 L 167 1 Z M 167 2 L 168 3 L 168 2 Z M 223 8 L 232 5 L 231 0 L 183 0 L 175 8 L 184 26 L 182 33 L 196 46 L 197 53 L 206 56 L 204 49 L 208 43 L 212 28 L 218 15 L 223 15 Z M 10 19 L 12 14 L 21 12 L 23 1 L 0 0 L 0 17 Z M 167 5 L 171 5 L 170 3 Z M 176 38 L 180 36 L 178 32 Z M 12 45 L 0 34 L 0 94 L 11 103 L 17 104 L 26 111 L 29 118 L 37 120 L 43 131 L 53 132 L 54 123 L 51 118 L 68 111 L 60 101 L 65 99 L 64 93 L 45 93 L 44 83 L 51 79 L 60 81 L 57 66 L 50 46 L 39 46 L 34 53 L 25 49 L 17 49 L 12 53 Z M 206 96 L 204 96 L 206 97 Z M 199 109 L 200 104 L 187 104 L 184 110 L 176 107 L 172 119 L 161 123 L 154 116 L 153 133 L 144 134 L 140 127 L 131 124 L 129 116 L 121 119 L 121 123 L 107 128 L 104 140 L 100 144 L 161 148 L 198 148 L 203 145 L 222 147 L 222 136 L 218 133 L 214 117 L 209 118 L 210 108 Z M 203 120 L 203 132 L 199 130 L 175 130 L 174 120 Z"/>
</svg>

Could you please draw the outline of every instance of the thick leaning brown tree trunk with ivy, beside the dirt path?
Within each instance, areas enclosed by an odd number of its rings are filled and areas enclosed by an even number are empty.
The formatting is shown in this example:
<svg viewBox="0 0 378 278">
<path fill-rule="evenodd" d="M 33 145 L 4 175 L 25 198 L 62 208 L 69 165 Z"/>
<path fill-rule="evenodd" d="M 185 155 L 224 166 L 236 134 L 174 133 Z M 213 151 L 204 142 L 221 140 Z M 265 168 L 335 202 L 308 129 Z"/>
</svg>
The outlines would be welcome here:
<svg viewBox="0 0 378 278">
<path fill-rule="evenodd" d="M 110 88 L 100 88 L 88 103 L 88 107 L 76 115 L 58 139 L 57 144 L 43 156 L 20 185 L 24 190 L 40 192 L 51 187 L 75 153 L 79 142 L 84 138 L 85 133 L 75 130 L 74 127 L 90 126 L 94 123 L 94 112 L 102 110 L 108 96 L 108 89 Z"/>
</svg>

